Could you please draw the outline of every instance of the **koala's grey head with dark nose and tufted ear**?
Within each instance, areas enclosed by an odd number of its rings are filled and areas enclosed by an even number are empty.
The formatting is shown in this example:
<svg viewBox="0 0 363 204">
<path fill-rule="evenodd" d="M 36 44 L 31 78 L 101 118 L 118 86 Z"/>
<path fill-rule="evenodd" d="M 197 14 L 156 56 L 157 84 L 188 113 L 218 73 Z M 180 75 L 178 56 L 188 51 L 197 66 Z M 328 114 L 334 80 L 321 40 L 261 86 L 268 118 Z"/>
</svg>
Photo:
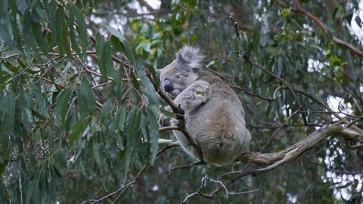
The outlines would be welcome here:
<svg viewBox="0 0 363 204">
<path fill-rule="evenodd" d="M 175 56 L 173 62 L 157 71 L 161 88 L 172 98 L 197 80 L 204 57 L 199 48 L 188 45 L 181 48 Z"/>
</svg>

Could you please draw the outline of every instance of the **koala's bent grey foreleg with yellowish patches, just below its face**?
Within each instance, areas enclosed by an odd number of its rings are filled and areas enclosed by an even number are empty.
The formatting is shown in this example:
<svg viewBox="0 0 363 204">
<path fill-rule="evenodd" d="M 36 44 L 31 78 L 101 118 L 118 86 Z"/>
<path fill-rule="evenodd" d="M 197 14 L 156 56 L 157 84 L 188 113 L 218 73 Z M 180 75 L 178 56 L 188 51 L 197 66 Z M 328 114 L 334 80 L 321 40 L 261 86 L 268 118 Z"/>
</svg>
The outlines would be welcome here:
<svg viewBox="0 0 363 204">
<path fill-rule="evenodd" d="M 195 81 L 174 99 L 174 103 L 180 104 L 180 107 L 187 111 L 200 106 L 210 97 L 210 85 L 205 81 Z"/>
</svg>

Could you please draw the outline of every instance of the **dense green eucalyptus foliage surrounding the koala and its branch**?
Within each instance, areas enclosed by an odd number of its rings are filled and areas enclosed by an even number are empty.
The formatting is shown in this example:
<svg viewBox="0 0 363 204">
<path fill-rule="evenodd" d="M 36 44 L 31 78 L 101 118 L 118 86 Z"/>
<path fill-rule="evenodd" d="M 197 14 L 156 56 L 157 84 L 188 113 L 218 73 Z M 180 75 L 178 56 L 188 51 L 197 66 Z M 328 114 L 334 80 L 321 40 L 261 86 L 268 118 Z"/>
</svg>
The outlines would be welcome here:
<svg viewBox="0 0 363 204">
<path fill-rule="evenodd" d="M 0 1 L 0 200 L 178 203 L 202 183 L 208 194 L 241 170 L 264 168 L 171 170 L 195 162 L 178 147 L 156 157 L 165 147 L 158 139 L 174 137 L 158 132 L 165 103 L 146 69 L 155 79 L 186 43 L 237 87 L 250 152 L 283 151 L 333 123 L 361 133 L 363 3 L 149 3 Z M 241 177 L 215 199 L 188 201 L 359 203 L 362 141 L 337 132 L 290 163 Z"/>
</svg>

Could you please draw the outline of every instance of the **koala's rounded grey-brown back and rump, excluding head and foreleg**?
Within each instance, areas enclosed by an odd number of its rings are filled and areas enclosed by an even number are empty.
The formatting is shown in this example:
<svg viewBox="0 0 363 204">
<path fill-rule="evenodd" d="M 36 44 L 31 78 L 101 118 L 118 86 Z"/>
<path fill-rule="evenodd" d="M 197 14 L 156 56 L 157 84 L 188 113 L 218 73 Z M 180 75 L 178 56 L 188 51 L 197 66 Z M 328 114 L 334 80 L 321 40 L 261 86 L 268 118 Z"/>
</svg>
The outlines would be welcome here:
<svg viewBox="0 0 363 204">
<path fill-rule="evenodd" d="M 201 146 L 207 163 L 222 165 L 235 160 L 248 148 L 251 140 L 246 128 L 244 109 L 232 89 L 209 72 L 198 80 L 211 87 L 211 98 L 186 112 L 186 126 Z M 174 131 L 178 141 L 191 155 L 199 158 L 183 133 Z"/>
</svg>

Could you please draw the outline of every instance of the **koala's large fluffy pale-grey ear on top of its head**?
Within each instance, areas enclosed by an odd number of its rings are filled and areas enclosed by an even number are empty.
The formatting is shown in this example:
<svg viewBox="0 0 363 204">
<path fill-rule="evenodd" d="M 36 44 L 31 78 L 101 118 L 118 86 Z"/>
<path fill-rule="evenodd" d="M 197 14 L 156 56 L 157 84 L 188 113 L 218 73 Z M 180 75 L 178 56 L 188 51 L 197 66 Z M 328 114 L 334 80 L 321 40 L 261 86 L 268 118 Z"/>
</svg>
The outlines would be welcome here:
<svg viewBox="0 0 363 204">
<path fill-rule="evenodd" d="M 185 45 L 176 54 L 176 60 L 183 65 L 189 65 L 194 72 L 197 71 L 204 58 L 204 55 L 200 53 L 200 49 Z"/>
</svg>

